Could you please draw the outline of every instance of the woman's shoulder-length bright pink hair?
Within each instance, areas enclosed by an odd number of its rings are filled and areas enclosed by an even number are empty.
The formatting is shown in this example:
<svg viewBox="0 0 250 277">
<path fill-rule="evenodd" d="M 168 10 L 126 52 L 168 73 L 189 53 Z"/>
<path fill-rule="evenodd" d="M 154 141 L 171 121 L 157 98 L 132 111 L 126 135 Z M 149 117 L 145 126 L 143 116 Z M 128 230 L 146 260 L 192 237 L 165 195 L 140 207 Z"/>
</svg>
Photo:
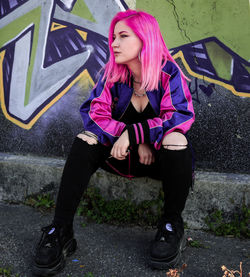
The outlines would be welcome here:
<svg viewBox="0 0 250 277">
<path fill-rule="evenodd" d="M 115 83 L 118 81 L 125 83 L 131 77 L 131 72 L 127 65 L 115 63 L 114 52 L 111 47 L 115 25 L 121 20 L 133 30 L 143 44 L 140 53 L 141 88 L 145 90 L 157 89 L 161 70 L 166 62 L 168 60 L 175 64 L 176 62 L 169 53 L 163 40 L 157 20 L 144 11 L 126 10 L 124 12 L 118 12 L 112 19 L 108 37 L 110 57 L 105 66 L 103 80 L 107 78 L 107 83 Z M 179 68 L 178 65 L 177 67 Z M 182 71 L 181 74 L 183 74 Z"/>
</svg>

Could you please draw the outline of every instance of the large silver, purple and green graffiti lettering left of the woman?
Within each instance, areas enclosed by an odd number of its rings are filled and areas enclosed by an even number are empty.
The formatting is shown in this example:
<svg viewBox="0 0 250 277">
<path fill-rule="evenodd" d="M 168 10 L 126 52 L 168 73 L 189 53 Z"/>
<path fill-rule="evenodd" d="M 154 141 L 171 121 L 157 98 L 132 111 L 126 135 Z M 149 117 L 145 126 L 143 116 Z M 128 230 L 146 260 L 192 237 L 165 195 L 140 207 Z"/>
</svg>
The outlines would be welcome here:
<svg viewBox="0 0 250 277">
<path fill-rule="evenodd" d="M 119 7 L 97 0 L 7 2 L 0 20 L 1 106 L 6 118 L 30 129 L 80 78 L 93 83 L 108 58 L 106 16 Z M 74 14 L 76 4 L 94 22 Z"/>
</svg>

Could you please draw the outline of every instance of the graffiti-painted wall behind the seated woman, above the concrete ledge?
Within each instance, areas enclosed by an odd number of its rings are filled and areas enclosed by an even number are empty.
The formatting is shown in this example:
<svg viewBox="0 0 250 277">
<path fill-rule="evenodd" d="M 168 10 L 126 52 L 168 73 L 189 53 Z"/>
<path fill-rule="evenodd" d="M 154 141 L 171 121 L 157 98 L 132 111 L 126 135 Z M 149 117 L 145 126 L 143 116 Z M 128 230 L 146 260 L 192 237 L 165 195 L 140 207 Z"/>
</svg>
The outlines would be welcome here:
<svg viewBox="0 0 250 277">
<path fill-rule="evenodd" d="M 136 7 L 157 18 L 191 80 L 197 167 L 248 172 L 250 20 L 239 2 L 0 0 L 0 152 L 67 155 L 108 60 L 110 20 Z"/>
</svg>

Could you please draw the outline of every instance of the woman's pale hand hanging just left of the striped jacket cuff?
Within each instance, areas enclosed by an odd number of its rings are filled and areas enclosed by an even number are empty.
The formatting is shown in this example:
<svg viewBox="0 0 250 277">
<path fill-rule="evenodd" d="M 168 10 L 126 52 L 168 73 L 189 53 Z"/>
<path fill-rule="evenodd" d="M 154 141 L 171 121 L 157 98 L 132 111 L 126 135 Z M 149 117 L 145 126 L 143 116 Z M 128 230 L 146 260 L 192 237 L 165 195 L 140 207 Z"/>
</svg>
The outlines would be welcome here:
<svg viewBox="0 0 250 277">
<path fill-rule="evenodd" d="M 126 130 L 114 143 L 110 154 L 117 160 L 125 160 L 126 156 L 128 155 L 128 152 L 127 152 L 128 147 L 129 147 L 129 137 L 128 137 L 128 131 Z"/>
</svg>

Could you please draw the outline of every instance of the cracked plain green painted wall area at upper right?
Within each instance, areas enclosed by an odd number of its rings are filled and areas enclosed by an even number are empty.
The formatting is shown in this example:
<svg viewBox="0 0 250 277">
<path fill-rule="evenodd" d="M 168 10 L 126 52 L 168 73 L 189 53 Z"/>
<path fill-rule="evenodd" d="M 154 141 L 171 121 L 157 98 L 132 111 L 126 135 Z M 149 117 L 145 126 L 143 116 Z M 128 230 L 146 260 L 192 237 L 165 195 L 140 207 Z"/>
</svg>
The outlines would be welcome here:
<svg viewBox="0 0 250 277">
<path fill-rule="evenodd" d="M 137 0 L 136 8 L 156 17 L 168 48 L 215 36 L 250 60 L 248 0 Z"/>
</svg>

